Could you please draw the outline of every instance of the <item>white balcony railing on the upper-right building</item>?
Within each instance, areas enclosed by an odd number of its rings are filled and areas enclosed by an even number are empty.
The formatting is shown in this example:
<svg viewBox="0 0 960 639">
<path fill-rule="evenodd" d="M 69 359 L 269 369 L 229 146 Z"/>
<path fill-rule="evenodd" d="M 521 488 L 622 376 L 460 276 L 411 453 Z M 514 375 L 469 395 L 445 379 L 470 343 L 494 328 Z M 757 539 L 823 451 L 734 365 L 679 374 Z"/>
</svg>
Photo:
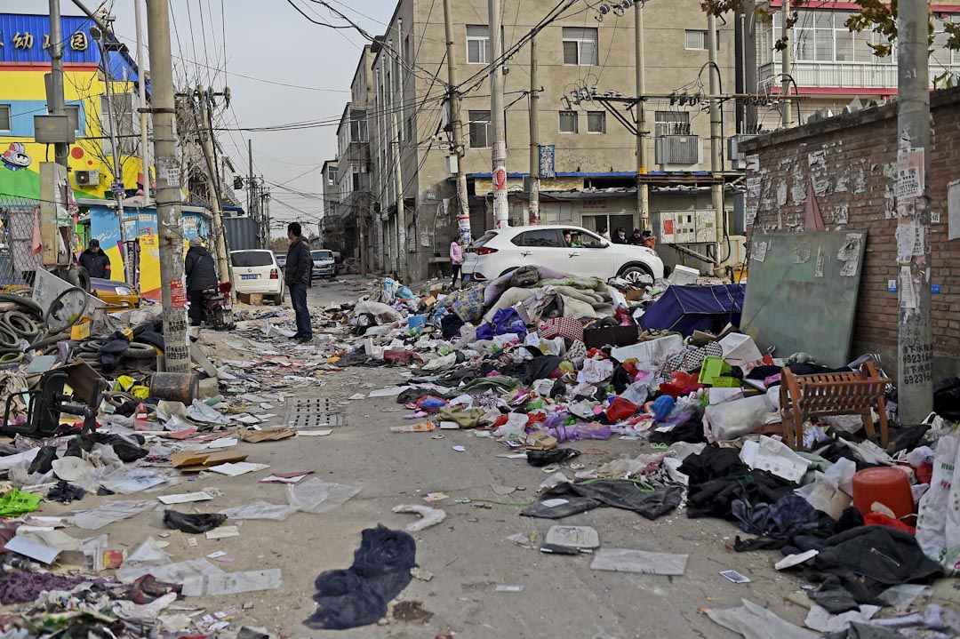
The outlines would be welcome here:
<svg viewBox="0 0 960 639">
<path fill-rule="evenodd" d="M 770 90 L 781 82 L 780 62 L 760 66 L 758 83 L 760 90 Z M 960 75 L 960 65 L 943 66 L 930 60 L 930 84 L 944 72 Z M 871 64 L 869 62 L 794 62 L 792 72 L 797 85 L 804 88 L 851 89 L 897 89 L 896 64 Z"/>
</svg>

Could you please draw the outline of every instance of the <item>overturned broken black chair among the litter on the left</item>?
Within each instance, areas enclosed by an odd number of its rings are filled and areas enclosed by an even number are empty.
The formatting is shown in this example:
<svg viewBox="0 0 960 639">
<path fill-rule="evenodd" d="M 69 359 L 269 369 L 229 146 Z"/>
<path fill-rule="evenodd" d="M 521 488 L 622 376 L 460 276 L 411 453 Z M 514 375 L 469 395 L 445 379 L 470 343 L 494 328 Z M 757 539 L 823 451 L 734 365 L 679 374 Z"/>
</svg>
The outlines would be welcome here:
<svg viewBox="0 0 960 639">
<path fill-rule="evenodd" d="M 92 433 L 97 427 L 97 411 L 103 401 L 107 381 L 102 377 L 92 384 L 87 395 L 86 405 L 73 404 L 71 396 L 63 392 L 67 383 L 67 373 L 63 369 L 48 370 L 40 377 L 36 390 L 12 392 L 7 398 L 4 410 L 4 423 L 0 433 L 26 435 L 28 437 L 53 437 L 60 432 L 60 415 L 74 414 L 84 417 L 84 433 Z M 27 400 L 27 420 L 22 424 L 12 424 L 10 414 L 14 397 Z"/>
</svg>

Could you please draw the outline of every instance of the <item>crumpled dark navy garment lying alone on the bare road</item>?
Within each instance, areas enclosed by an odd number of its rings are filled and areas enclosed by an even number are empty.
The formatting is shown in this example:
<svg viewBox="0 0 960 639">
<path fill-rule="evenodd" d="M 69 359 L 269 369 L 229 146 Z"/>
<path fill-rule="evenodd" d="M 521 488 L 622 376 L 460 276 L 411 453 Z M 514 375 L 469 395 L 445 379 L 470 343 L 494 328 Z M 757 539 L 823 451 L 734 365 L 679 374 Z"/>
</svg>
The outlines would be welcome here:
<svg viewBox="0 0 960 639">
<path fill-rule="evenodd" d="M 315 585 L 317 611 L 304 621 L 314 629 L 342 630 L 375 624 L 390 603 L 413 580 L 417 542 L 383 526 L 362 532 L 353 565 L 321 574 Z"/>
</svg>

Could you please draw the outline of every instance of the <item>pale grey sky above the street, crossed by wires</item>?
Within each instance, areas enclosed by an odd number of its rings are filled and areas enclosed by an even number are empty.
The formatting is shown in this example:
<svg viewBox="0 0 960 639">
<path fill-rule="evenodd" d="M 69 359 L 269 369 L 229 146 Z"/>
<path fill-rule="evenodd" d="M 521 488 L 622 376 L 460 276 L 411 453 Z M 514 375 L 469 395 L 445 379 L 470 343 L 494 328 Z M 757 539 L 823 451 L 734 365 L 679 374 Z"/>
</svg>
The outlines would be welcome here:
<svg viewBox="0 0 960 639">
<path fill-rule="evenodd" d="M 116 17 L 114 33 L 130 47 L 133 57 L 136 55 L 134 1 L 83 0 L 89 9 L 105 5 Z M 324 7 L 309 0 L 170 0 L 174 31 L 171 46 L 178 90 L 197 83 L 213 86 L 217 91 L 225 86 L 230 89 L 230 108 L 222 110 L 216 126 L 266 127 L 339 118 L 343 112 L 353 71 L 366 40 L 352 30 L 332 30 L 311 24 L 289 2 L 297 3 L 303 12 L 318 20 L 331 19 Z M 4 7 L 5 12 L 49 13 L 47 0 L 17 0 L 5 4 L 15 4 L 13 8 Z M 331 0 L 331 4 L 368 33 L 378 35 L 385 29 L 384 23 L 393 14 L 396 2 Z M 362 8 L 351 8 L 357 4 Z M 142 8 L 146 19 L 145 3 Z M 83 14 L 72 0 L 60 0 L 60 12 Z M 190 25 L 194 28 L 190 29 Z M 146 44 L 146 24 L 143 36 Z M 247 175 L 247 141 L 252 139 L 255 175 L 263 175 L 268 182 L 301 194 L 311 194 L 304 197 L 268 183 L 273 196 L 271 215 L 275 221 L 298 220 L 316 229 L 323 207 L 321 167 L 324 160 L 337 153 L 335 126 L 290 131 L 224 131 L 221 135 L 221 144 L 238 173 Z M 245 201 L 242 195 L 241 200 Z M 274 234 L 282 235 L 276 230 Z"/>
</svg>

